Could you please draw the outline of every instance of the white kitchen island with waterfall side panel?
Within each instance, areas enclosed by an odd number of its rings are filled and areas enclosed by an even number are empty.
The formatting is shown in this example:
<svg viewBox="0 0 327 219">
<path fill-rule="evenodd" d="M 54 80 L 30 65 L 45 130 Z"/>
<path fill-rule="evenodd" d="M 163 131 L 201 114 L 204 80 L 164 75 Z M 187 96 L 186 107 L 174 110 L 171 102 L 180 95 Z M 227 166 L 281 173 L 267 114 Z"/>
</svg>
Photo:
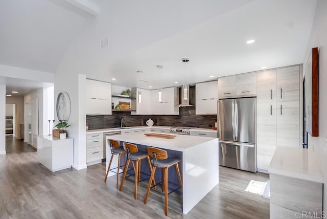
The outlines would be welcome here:
<svg viewBox="0 0 327 219">
<path fill-rule="evenodd" d="M 107 139 L 181 152 L 184 214 L 219 183 L 218 138 L 176 135 L 173 139 L 164 139 L 132 133 Z M 106 156 L 111 156 L 110 148 L 107 148 Z"/>
</svg>

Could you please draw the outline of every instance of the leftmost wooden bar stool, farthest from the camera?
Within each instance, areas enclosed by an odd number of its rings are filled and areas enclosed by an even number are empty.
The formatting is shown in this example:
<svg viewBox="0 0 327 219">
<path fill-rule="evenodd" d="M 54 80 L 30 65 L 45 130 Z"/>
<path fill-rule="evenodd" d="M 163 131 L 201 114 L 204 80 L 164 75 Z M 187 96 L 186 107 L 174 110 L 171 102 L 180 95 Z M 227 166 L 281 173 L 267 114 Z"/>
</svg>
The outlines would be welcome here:
<svg viewBox="0 0 327 219">
<path fill-rule="evenodd" d="M 119 174 L 120 174 L 120 167 L 121 167 L 121 155 L 123 155 L 123 169 L 124 169 L 124 164 L 125 164 L 125 153 L 126 151 L 124 150 L 124 147 L 120 147 L 119 146 L 119 141 L 116 140 L 112 140 L 112 139 L 107 139 L 108 144 L 110 145 L 110 151 L 111 151 L 111 158 L 110 158 L 110 163 L 108 166 L 108 170 L 107 170 L 107 174 L 106 177 L 104 179 L 104 182 L 107 182 L 107 178 L 108 178 L 108 173 L 109 171 L 112 171 L 112 169 L 117 168 L 117 182 L 116 182 L 116 187 L 118 188 L 118 184 L 119 184 Z M 118 165 L 115 168 L 110 169 L 111 163 L 112 163 L 112 159 L 114 155 L 118 155 Z M 114 172 L 114 171 L 112 171 Z"/>
</svg>

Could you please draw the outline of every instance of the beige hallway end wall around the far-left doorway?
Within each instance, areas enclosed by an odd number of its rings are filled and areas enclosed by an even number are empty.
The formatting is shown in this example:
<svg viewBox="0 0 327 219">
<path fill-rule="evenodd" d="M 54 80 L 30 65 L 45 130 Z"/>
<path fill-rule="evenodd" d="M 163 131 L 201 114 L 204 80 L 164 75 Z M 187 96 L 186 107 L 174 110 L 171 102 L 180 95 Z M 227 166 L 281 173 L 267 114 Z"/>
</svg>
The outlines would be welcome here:
<svg viewBox="0 0 327 219">
<path fill-rule="evenodd" d="M 24 124 L 24 97 L 6 97 L 6 105 L 7 104 L 15 104 L 15 125 L 16 132 L 15 136 L 18 139 L 24 138 L 24 136 L 20 136 L 20 125 Z"/>
</svg>

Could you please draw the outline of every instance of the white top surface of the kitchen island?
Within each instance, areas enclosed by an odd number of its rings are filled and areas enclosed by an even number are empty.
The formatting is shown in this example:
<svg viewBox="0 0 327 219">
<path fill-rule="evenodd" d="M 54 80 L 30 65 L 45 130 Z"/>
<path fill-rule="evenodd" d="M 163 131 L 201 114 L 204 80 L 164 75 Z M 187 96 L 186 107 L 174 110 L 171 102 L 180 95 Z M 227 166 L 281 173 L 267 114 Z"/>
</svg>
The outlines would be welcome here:
<svg viewBox="0 0 327 219">
<path fill-rule="evenodd" d="M 154 132 L 151 132 L 154 133 Z M 158 133 L 162 134 L 162 133 Z M 131 133 L 125 135 L 115 135 L 107 137 L 107 139 L 119 140 L 130 142 L 134 144 L 141 144 L 153 147 L 159 147 L 170 150 L 184 151 L 185 149 L 191 148 L 195 145 L 199 145 L 208 141 L 217 141 L 218 138 L 199 137 L 199 136 L 188 136 L 188 135 L 176 135 L 173 139 L 165 139 L 158 137 L 145 136 L 143 133 Z"/>
</svg>

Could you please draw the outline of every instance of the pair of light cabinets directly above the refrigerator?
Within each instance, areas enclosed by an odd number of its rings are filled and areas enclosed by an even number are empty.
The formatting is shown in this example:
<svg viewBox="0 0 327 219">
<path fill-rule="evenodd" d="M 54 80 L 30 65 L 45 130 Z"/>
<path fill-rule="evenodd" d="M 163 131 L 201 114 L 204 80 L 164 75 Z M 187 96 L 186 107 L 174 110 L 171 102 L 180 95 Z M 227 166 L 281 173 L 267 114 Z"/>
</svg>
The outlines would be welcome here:
<svg viewBox="0 0 327 219">
<path fill-rule="evenodd" d="M 218 78 L 220 99 L 229 97 L 255 96 L 256 73 L 246 73 Z"/>
</svg>

